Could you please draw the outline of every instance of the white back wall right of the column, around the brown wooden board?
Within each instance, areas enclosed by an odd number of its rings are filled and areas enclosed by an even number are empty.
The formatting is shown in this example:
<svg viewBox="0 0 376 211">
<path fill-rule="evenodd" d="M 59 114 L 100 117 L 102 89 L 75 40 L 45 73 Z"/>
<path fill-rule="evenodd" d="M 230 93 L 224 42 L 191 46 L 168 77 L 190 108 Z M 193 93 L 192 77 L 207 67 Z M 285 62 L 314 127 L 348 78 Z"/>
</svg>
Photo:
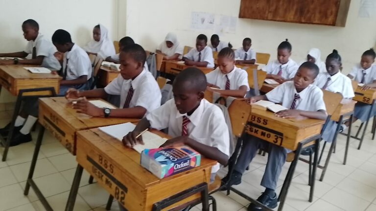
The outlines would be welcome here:
<svg viewBox="0 0 376 211">
<path fill-rule="evenodd" d="M 376 43 L 376 15 L 358 18 L 359 6 L 360 0 L 351 1 L 346 27 L 238 19 L 235 33 L 225 33 L 220 40 L 237 48 L 243 38 L 250 37 L 257 52 L 270 53 L 275 59 L 278 44 L 288 38 L 293 46 L 291 58 L 296 62 L 302 61 L 311 47 L 321 49 L 322 60 L 337 49 L 343 71 L 348 73 L 361 54 Z M 119 25 L 118 38 L 131 36 L 146 49 L 155 50 L 171 31 L 183 45 L 194 46 L 198 34 L 210 39 L 214 30 L 192 30 L 191 12 L 237 17 L 239 7 L 240 0 L 127 0 L 119 6 L 119 11 L 126 11 L 119 16 L 119 23 L 126 24 Z"/>
</svg>

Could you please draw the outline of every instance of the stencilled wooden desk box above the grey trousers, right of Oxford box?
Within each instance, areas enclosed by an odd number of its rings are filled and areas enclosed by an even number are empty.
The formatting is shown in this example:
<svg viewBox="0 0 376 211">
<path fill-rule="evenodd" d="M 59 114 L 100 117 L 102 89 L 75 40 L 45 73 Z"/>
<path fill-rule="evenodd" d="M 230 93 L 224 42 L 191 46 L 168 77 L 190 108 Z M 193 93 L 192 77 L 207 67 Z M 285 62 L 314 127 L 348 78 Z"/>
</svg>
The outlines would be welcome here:
<svg viewBox="0 0 376 211">
<path fill-rule="evenodd" d="M 302 140 L 320 134 L 323 124 L 324 120 L 284 119 L 271 111 L 252 107 L 245 132 L 294 151 Z"/>
</svg>

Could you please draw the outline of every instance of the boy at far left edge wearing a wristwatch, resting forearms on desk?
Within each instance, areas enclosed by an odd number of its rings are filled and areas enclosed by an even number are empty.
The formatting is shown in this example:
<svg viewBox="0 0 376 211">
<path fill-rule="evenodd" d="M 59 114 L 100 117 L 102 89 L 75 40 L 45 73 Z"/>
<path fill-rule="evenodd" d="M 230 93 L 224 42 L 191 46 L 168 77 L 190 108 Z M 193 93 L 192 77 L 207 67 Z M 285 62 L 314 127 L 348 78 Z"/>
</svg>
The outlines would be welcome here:
<svg viewBox="0 0 376 211">
<path fill-rule="evenodd" d="M 24 51 L 15 53 L 0 53 L 0 57 L 24 58 L 31 54 L 31 59 L 0 60 L 0 64 L 34 64 L 50 70 L 60 70 L 61 65 L 54 56 L 55 47 L 41 33 L 37 21 L 28 19 L 23 22 L 24 38 L 28 41 Z"/>
</svg>

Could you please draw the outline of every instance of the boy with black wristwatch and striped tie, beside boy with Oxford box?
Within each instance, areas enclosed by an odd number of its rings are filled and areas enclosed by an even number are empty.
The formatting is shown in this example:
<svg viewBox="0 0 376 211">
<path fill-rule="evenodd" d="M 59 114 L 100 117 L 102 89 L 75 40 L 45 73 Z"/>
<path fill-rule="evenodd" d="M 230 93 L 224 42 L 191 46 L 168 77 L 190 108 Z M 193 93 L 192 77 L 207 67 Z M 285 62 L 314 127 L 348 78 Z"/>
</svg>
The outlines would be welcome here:
<svg viewBox="0 0 376 211">
<path fill-rule="evenodd" d="M 127 45 L 120 54 L 120 74 L 104 88 L 89 91 L 68 90 L 66 98 L 79 100 L 74 109 L 79 113 L 97 117 L 142 118 L 161 105 L 161 91 L 153 75 L 144 68 L 145 50 L 138 44 Z M 103 98 L 120 95 L 120 108 L 99 108 L 86 98 Z"/>
</svg>

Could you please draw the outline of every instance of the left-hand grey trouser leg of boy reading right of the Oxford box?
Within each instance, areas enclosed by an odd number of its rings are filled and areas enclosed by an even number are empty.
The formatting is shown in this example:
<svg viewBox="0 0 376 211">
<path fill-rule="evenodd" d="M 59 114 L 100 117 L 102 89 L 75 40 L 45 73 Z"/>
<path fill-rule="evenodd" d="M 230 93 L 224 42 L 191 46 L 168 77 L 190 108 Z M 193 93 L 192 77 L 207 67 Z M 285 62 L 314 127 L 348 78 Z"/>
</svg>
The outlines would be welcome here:
<svg viewBox="0 0 376 211">
<path fill-rule="evenodd" d="M 256 156 L 257 150 L 261 148 L 264 141 L 256 138 L 254 136 L 248 135 L 246 140 L 243 141 L 239 157 L 237 158 L 234 172 L 231 175 L 231 180 L 229 185 L 238 185 L 241 183 L 241 176 L 243 175 L 245 169 L 251 163 L 252 159 Z M 223 182 L 227 182 L 229 175 L 223 178 Z"/>
</svg>

